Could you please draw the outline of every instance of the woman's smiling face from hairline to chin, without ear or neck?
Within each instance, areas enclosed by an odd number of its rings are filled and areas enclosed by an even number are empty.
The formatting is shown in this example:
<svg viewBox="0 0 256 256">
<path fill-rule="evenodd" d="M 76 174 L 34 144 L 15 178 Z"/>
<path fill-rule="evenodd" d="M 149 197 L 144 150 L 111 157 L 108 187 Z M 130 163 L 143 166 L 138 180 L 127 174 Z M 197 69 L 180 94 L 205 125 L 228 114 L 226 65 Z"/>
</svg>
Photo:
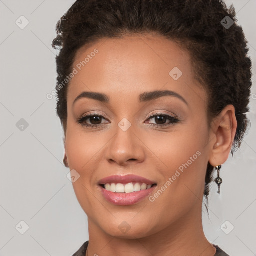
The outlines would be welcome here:
<svg viewBox="0 0 256 256">
<path fill-rule="evenodd" d="M 206 93 L 188 52 L 152 34 L 104 38 L 80 48 L 72 70 L 65 152 L 89 225 L 112 236 L 145 237 L 198 217 L 209 129 Z M 113 175 L 115 182 L 100 182 Z M 126 175 L 136 176 L 118 179 Z M 107 182 L 117 192 L 103 188 Z"/>
</svg>

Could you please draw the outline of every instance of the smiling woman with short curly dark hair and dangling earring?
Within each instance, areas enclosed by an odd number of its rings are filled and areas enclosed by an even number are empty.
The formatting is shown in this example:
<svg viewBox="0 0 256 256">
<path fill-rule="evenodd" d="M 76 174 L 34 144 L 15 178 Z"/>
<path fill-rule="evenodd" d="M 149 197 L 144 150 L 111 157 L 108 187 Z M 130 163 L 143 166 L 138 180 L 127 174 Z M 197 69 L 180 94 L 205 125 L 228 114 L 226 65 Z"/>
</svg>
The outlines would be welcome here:
<svg viewBox="0 0 256 256">
<path fill-rule="evenodd" d="M 89 227 L 75 256 L 227 255 L 201 206 L 248 123 L 235 21 L 219 0 L 77 0 L 59 20 L 63 161 Z"/>
</svg>

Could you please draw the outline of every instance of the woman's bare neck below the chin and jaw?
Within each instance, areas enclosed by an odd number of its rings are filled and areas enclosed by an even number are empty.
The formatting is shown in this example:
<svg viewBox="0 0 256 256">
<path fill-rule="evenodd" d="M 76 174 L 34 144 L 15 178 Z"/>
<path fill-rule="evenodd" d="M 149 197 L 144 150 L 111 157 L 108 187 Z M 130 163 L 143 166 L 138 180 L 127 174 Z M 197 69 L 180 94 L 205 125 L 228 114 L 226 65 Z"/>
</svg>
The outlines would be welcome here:
<svg viewBox="0 0 256 256">
<path fill-rule="evenodd" d="M 203 232 L 201 204 L 192 211 L 159 232 L 142 238 L 136 238 L 136 235 L 133 238 L 111 236 L 88 218 L 89 244 L 86 255 L 214 256 L 216 249 Z"/>
</svg>

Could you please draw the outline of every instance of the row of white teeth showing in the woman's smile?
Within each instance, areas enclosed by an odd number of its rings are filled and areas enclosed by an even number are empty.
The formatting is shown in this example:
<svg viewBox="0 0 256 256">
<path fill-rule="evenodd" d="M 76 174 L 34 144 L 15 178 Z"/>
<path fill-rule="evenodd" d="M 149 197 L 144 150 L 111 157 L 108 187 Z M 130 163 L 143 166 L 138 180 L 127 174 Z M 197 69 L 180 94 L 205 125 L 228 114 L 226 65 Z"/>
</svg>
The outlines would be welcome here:
<svg viewBox="0 0 256 256">
<path fill-rule="evenodd" d="M 127 184 L 121 184 L 121 183 L 107 183 L 104 185 L 105 189 L 111 192 L 116 192 L 116 193 L 132 193 L 132 192 L 137 192 L 140 190 L 145 190 L 150 188 L 152 185 L 147 185 L 145 183 L 127 183 Z"/>
</svg>

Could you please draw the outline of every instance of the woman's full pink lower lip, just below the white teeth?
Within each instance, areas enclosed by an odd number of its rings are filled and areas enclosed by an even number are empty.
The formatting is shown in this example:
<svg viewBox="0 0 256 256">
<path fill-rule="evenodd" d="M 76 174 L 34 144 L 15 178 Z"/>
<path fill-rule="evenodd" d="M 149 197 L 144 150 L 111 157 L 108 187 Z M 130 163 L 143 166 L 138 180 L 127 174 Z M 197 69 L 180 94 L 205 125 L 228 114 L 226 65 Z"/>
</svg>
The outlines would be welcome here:
<svg viewBox="0 0 256 256">
<path fill-rule="evenodd" d="M 105 199 L 115 205 L 131 205 L 143 200 L 149 195 L 156 186 L 152 186 L 145 190 L 140 190 L 132 193 L 116 193 L 111 192 L 100 186 L 101 192 Z"/>
</svg>

